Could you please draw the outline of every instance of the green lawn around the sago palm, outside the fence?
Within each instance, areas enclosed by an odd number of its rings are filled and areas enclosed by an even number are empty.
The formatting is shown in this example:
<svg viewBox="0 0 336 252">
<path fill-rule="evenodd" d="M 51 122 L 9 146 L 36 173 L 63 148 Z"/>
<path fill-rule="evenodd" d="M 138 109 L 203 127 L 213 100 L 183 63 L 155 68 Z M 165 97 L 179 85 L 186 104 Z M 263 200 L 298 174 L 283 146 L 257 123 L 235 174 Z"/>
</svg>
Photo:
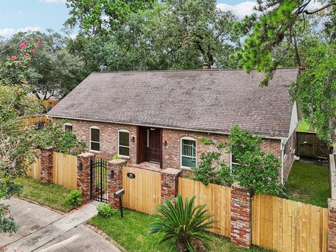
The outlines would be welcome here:
<svg viewBox="0 0 336 252">
<path fill-rule="evenodd" d="M 129 252 L 154 252 L 169 251 L 167 245 L 158 245 L 162 235 L 149 235 L 148 229 L 150 223 L 154 221 L 154 216 L 141 214 L 137 211 L 125 209 L 124 218 L 120 218 L 120 212 L 110 218 L 94 216 L 89 224 L 94 225 L 106 232 L 111 238 L 117 241 Z M 237 248 L 230 244 L 230 240 L 216 235 L 210 235 L 211 242 L 208 245 L 208 251 L 234 252 L 234 251 L 267 251 L 262 248 L 253 247 L 250 250 Z"/>
</svg>

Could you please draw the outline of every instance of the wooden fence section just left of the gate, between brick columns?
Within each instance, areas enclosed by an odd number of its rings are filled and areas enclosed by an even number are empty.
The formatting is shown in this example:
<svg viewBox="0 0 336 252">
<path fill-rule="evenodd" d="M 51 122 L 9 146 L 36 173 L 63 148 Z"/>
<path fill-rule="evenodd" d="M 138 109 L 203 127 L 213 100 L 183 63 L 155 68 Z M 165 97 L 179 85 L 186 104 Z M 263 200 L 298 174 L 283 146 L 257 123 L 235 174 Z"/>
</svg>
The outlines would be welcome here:
<svg viewBox="0 0 336 252">
<path fill-rule="evenodd" d="M 52 154 L 52 181 L 68 189 L 77 188 L 77 157 L 54 151 Z"/>
</svg>

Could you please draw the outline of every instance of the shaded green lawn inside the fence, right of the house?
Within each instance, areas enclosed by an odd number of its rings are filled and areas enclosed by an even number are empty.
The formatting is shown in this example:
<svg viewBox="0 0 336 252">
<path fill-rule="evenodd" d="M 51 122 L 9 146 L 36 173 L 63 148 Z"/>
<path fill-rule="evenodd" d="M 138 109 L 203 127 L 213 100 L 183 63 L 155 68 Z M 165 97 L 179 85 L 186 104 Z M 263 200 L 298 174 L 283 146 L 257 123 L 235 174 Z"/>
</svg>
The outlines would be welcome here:
<svg viewBox="0 0 336 252">
<path fill-rule="evenodd" d="M 295 161 L 290 170 L 286 188 L 295 201 L 328 207 L 329 168 Z"/>
</svg>

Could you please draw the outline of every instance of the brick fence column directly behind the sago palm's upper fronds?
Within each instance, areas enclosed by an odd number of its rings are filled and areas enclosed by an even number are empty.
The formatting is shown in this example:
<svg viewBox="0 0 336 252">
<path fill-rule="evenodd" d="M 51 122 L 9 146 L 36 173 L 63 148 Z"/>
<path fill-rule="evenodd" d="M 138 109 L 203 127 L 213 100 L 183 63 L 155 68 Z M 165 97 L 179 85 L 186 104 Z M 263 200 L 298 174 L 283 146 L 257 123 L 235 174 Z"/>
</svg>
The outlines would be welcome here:
<svg viewBox="0 0 336 252">
<path fill-rule="evenodd" d="M 179 193 L 179 175 L 181 170 L 167 168 L 161 172 L 161 203 L 165 200 L 174 202 L 174 198 Z"/>
</svg>

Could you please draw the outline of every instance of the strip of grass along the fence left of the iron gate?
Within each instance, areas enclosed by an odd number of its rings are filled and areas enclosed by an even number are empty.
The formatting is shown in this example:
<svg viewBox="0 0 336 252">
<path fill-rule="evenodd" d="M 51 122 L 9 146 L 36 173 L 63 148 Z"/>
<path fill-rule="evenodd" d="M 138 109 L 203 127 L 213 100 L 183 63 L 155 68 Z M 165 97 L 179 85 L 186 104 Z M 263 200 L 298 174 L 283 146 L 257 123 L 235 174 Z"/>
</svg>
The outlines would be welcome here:
<svg viewBox="0 0 336 252">
<path fill-rule="evenodd" d="M 44 184 L 36 179 L 28 177 L 16 179 L 16 182 L 23 186 L 20 197 L 33 200 L 39 204 L 62 211 L 69 212 L 73 207 L 65 203 L 69 189 L 54 184 Z"/>
</svg>

